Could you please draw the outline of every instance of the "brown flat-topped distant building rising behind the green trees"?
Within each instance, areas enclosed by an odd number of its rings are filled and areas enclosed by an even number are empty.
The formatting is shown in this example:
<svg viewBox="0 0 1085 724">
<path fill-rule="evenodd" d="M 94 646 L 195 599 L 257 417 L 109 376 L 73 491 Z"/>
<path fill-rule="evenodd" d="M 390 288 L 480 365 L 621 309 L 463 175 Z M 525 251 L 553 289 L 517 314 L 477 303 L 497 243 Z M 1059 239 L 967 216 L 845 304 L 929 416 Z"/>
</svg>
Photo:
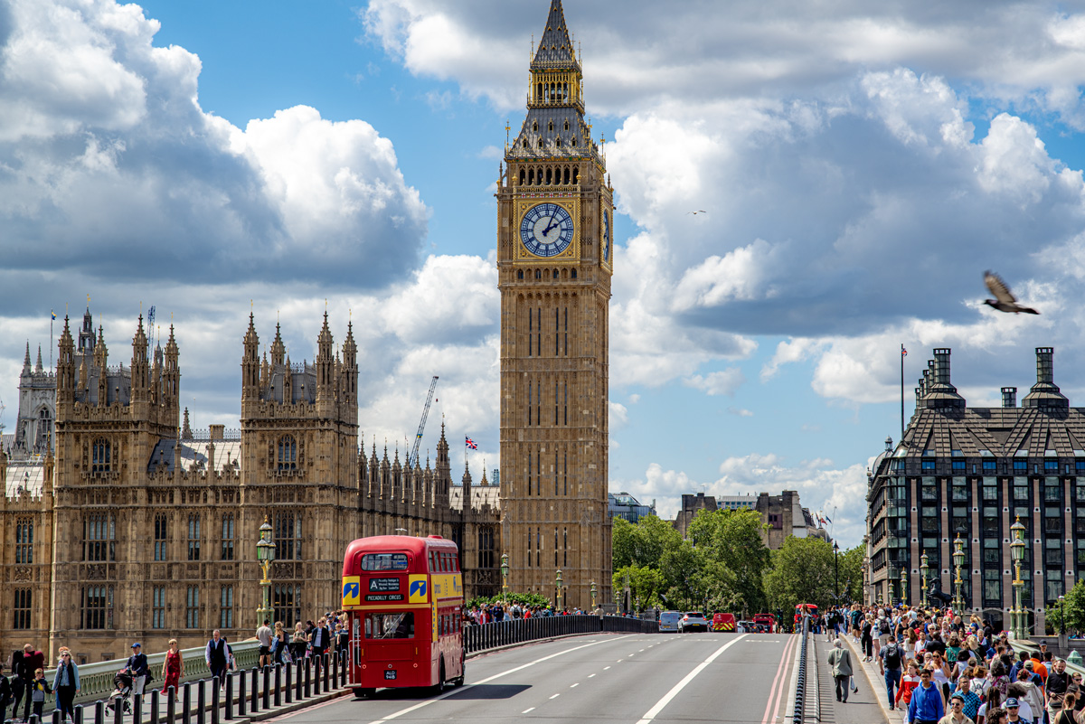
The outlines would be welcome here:
<svg viewBox="0 0 1085 724">
<path fill-rule="evenodd" d="M 686 538 L 689 525 L 699 510 L 755 510 L 761 514 L 762 541 L 766 547 L 777 550 L 788 535 L 829 540 L 825 529 L 818 528 L 814 516 L 799 502 L 799 493 L 784 490 L 779 495 L 727 495 L 715 497 L 704 493 L 681 496 L 681 510 L 675 517 L 675 528 Z"/>
</svg>

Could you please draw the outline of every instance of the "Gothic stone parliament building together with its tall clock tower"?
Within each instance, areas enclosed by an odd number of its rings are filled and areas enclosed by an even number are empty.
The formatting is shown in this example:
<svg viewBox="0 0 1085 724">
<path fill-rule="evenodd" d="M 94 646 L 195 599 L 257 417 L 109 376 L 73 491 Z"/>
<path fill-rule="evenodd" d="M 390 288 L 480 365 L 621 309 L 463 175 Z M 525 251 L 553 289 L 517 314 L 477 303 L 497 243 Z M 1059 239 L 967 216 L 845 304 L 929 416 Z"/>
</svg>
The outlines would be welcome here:
<svg viewBox="0 0 1085 724">
<path fill-rule="evenodd" d="M 468 598 L 500 592 L 508 554 L 510 591 L 552 599 L 560 569 L 564 605 L 612 600 L 613 189 L 561 0 L 529 76 L 496 194 L 500 484 L 454 475 L 444 426 L 424 466 L 375 444 L 367 453 L 354 335 L 347 324 L 336 345 L 327 313 L 315 360 L 301 364 L 279 325 L 261 345 L 251 314 L 238 331 L 240 430 L 193 430 L 180 404 L 183 329 L 152 346 L 140 316 L 111 359 L 88 309 L 65 318 L 54 370 L 40 349 L 31 364 L 27 345 L 14 432 L 0 440 L 0 650 L 68 646 L 97 661 L 126 657 L 133 641 L 153 651 L 169 638 L 200 646 L 213 629 L 250 637 L 265 520 L 271 605 L 288 626 L 340 608 L 343 552 L 374 534 L 456 541 Z"/>
</svg>

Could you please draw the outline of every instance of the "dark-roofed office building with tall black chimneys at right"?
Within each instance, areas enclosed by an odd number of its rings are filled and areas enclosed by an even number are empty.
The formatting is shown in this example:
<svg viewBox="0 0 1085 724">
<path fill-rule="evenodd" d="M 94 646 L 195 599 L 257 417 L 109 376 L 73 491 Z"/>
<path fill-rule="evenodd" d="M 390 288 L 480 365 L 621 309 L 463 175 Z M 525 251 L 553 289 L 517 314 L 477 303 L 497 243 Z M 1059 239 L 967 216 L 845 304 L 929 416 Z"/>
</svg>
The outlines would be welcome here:
<svg viewBox="0 0 1085 724">
<path fill-rule="evenodd" d="M 1054 349 L 1036 349 L 1036 383 L 1000 408 L 969 408 L 950 383 L 949 349 L 935 349 L 904 439 L 869 471 L 868 599 L 920 600 L 920 566 L 953 594 L 954 542 L 965 553 L 970 610 L 1008 623 L 1013 605 L 1010 526 L 1025 527 L 1023 604 L 1043 632 L 1045 606 L 1085 570 L 1085 414 L 1056 386 Z"/>
</svg>

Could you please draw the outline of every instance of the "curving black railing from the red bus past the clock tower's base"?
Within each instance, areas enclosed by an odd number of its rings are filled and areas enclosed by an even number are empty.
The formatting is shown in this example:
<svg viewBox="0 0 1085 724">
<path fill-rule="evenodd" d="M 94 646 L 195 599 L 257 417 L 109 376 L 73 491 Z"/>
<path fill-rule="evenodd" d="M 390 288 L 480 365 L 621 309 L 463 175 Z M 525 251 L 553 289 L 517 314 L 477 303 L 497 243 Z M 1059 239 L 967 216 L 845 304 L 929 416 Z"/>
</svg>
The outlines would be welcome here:
<svg viewBox="0 0 1085 724">
<path fill-rule="evenodd" d="M 511 619 L 464 626 L 463 646 L 470 654 L 540 638 L 602 632 L 659 633 L 659 624 L 654 621 L 627 619 L 621 616 L 545 616 Z"/>
</svg>

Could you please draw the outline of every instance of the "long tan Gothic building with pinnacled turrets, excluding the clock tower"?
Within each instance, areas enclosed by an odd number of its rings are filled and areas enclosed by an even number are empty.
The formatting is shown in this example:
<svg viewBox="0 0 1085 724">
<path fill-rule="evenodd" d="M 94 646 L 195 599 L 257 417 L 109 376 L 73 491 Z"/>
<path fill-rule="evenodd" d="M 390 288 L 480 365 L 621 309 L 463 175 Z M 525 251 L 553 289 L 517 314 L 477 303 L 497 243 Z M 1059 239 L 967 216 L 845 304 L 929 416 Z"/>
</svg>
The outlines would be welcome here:
<svg viewBox="0 0 1085 724">
<path fill-rule="evenodd" d="M 241 430 L 193 434 L 187 410 L 181 424 L 173 327 L 151 353 L 140 318 L 130 363 L 111 365 L 89 310 L 78 346 L 65 319 L 46 405 L 53 443 L 0 445 L 0 580 L 13 603 L 0 613 L 0 650 L 29 642 L 52 656 L 67 645 L 93 661 L 127 656 L 132 641 L 197 646 L 216 628 L 248 637 L 265 519 L 275 617 L 288 626 L 339 608 L 343 551 L 362 535 L 450 538 L 468 596 L 499 590 L 497 488 L 485 476 L 472 486 L 468 471 L 454 487 L 444 429 L 433 467 L 390 463 L 375 445 L 359 452 L 349 325 L 336 350 L 324 315 L 312 363 L 291 362 L 278 326 L 261 358 L 252 316 L 243 347 Z M 39 401 L 39 378 L 24 374 L 21 401 L 26 384 Z"/>
</svg>

